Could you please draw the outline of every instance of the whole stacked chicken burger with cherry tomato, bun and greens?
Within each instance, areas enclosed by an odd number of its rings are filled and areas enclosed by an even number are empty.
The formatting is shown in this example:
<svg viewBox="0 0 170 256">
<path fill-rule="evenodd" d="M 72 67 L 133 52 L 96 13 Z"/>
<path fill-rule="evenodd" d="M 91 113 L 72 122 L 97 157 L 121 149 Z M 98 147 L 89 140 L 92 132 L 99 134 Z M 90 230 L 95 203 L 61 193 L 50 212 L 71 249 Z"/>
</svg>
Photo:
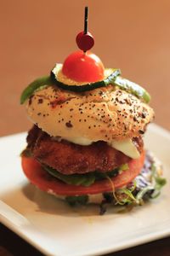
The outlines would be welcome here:
<svg viewBox="0 0 170 256">
<path fill-rule="evenodd" d="M 38 189 L 71 205 L 99 204 L 100 214 L 160 194 L 161 163 L 143 143 L 154 119 L 150 95 L 120 69 L 78 50 L 29 84 L 20 102 L 33 123 L 22 168 Z"/>
</svg>

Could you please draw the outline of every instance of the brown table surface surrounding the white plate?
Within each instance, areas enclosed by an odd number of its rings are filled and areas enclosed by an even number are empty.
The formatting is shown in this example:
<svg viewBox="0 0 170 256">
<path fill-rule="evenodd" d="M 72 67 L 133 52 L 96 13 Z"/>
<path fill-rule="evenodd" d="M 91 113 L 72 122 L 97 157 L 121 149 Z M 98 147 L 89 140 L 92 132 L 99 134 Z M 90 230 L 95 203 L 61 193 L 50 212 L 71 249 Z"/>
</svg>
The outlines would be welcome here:
<svg viewBox="0 0 170 256">
<path fill-rule="evenodd" d="M 105 67 L 121 68 L 124 77 L 150 91 L 156 123 L 170 130 L 169 0 L 6 0 L 0 9 L 0 136 L 31 127 L 20 93 L 77 50 L 75 38 L 83 29 L 85 5 L 94 53 Z M 169 255 L 169 245 L 170 238 L 165 238 L 110 255 Z M 0 224 L 0 255 L 42 254 Z"/>
</svg>

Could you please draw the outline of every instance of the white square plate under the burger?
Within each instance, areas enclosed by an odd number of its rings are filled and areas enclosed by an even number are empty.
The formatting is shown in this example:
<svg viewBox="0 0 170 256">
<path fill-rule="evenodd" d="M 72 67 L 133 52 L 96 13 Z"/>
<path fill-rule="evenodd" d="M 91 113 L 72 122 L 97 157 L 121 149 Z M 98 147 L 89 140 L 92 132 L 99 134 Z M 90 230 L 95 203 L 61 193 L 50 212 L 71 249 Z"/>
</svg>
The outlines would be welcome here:
<svg viewBox="0 0 170 256">
<path fill-rule="evenodd" d="M 98 207 L 72 209 L 27 182 L 20 167 L 26 133 L 0 139 L 0 218 L 48 255 L 82 256 L 115 252 L 170 235 L 170 133 L 150 125 L 145 145 L 164 164 L 161 196 L 132 212 L 98 215 Z"/>
</svg>

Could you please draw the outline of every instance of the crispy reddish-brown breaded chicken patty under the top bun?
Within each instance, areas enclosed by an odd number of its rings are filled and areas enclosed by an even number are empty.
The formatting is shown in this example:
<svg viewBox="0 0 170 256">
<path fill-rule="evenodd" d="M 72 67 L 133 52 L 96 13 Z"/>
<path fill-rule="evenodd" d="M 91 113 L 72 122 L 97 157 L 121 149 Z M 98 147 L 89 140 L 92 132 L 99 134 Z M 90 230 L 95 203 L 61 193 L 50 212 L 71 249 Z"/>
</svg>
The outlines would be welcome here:
<svg viewBox="0 0 170 256">
<path fill-rule="evenodd" d="M 63 174 L 111 172 L 131 160 L 127 155 L 105 142 L 99 141 L 88 146 L 81 146 L 65 140 L 59 141 L 55 137 L 50 137 L 36 125 L 29 131 L 27 143 L 27 148 L 38 161 Z M 134 138 L 133 143 L 139 152 L 143 150 L 141 137 Z"/>
</svg>

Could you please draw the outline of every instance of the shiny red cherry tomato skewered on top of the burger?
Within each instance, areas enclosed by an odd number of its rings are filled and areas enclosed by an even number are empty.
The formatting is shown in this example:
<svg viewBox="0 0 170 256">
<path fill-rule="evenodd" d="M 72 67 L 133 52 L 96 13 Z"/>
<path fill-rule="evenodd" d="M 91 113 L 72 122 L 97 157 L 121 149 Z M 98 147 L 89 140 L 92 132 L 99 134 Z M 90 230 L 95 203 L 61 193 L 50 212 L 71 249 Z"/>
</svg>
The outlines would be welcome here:
<svg viewBox="0 0 170 256">
<path fill-rule="evenodd" d="M 104 79 L 105 67 L 97 55 L 81 50 L 69 55 L 62 72 L 69 79 L 77 82 L 97 82 Z"/>
</svg>

